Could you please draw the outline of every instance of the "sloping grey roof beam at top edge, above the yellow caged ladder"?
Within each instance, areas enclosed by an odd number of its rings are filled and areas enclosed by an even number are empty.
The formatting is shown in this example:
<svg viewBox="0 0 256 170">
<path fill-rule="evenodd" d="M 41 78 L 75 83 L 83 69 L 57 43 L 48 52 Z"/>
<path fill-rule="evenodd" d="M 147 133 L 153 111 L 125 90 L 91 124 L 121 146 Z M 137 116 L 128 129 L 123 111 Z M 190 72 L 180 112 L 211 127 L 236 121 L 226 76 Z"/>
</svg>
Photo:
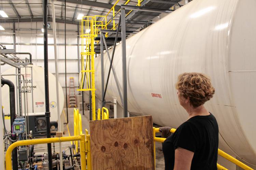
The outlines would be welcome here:
<svg viewBox="0 0 256 170">
<path fill-rule="evenodd" d="M 57 1 L 61 1 L 61 2 L 65 2 L 65 0 L 57 0 Z M 75 3 L 75 4 L 81 4 L 81 5 L 87 5 L 87 6 L 94 6 L 94 7 L 101 7 L 101 8 L 108 8 L 111 9 L 112 8 L 112 4 L 108 4 L 108 3 L 103 3 L 103 2 L 95 2 L 95 1 L 90 1 L 90 0 L 66 0 L 66 2 L 68 3 Z M 116 5 L 115 6 L 115 10 L 118 11 L 120 9 L 121 6 Z"/>
</svg>

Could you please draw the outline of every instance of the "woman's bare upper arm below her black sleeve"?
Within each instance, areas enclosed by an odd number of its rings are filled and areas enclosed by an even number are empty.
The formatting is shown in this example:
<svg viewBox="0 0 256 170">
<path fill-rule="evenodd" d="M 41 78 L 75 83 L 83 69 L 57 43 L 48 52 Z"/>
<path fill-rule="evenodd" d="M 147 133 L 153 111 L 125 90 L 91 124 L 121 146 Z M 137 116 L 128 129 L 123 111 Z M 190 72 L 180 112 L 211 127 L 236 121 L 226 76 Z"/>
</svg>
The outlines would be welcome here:
<svg viewBox="0 0 256 170">
<path fill-rule="evenodd" d="M 190 170 L 194 152 L 178 147 L 175 149 L 173 170 Z"/>
</svg>

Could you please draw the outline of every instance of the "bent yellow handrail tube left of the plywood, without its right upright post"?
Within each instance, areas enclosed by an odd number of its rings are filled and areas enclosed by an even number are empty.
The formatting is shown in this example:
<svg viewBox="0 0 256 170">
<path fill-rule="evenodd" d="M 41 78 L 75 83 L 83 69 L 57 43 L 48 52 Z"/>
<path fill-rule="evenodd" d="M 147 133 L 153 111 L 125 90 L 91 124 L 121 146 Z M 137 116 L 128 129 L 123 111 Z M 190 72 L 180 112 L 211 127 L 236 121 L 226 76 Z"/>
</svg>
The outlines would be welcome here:
<svg viewBox="0 0 256 170">
<path fill-rule="evenodd" d="M 20 140 L 12 143 L 5 154 L 5 165 L 6 170 L 12 170 L 12 150 L 19 146 L 24 145 L 35 145 L 42 143 L 56 143 L 56 142 L 67 142 L 82 140 L 82 136 L 66 136 L 66 137 L 55 137 L 55 138 L 44 138 L 44 139 L 31 139 L 31 140 Z M 85 170 L 85 169 L 82 169 Z"/>
</svg>

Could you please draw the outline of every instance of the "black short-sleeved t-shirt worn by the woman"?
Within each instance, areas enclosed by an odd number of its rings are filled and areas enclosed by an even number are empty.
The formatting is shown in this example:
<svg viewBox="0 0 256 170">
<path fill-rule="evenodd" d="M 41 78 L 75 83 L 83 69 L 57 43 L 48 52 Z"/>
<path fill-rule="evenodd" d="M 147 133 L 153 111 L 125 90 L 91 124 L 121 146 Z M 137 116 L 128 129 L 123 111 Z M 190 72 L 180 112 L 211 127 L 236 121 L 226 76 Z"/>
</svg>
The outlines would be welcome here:
<svg viewBox="0 0 256 170">
<path fill-rule="evenodd" d="M 182 123 L 162 145 L 165 169 L 174 168 L 175 149 L 194 152 L 191 170 L 216 170 L 218 158 L 218 123 L 210 113 L 194 116 Z"/>
</svg>

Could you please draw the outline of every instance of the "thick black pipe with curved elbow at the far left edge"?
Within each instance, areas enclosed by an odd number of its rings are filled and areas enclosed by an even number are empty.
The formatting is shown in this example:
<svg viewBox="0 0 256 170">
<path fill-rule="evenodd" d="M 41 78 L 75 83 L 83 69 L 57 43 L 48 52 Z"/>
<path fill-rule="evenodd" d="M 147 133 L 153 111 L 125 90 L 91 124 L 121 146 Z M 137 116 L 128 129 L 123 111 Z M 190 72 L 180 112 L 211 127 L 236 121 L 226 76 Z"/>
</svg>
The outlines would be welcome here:
<svg viewBox="0 0 256 170">
<path fill-rule="evenodd" d="M 10 91 L 10 117 L 11 117 L 11 133 L 13 133 L 13 129 L 12 129 L 12 124 L 16 118 L 16 114 L 15 114 L 15 87 L 13 82 L 11 82 L 10 80 L 6 80 L 6 79 L 2 79 L 1 83 L 4 85 L 8 85 L 9 86 L 9 91 Z M 12 134 L 11 136 L 12 140 L 16 140 L 17 136 L 16 134 Z M 14 143 L 14 142 L 12 142 Z M 17 148 L 14 148 L 14 150 L 12 151 L 12 169 L 13 170 L 18 170 L 18 154 L 17 154 Z"/>
</svg>

